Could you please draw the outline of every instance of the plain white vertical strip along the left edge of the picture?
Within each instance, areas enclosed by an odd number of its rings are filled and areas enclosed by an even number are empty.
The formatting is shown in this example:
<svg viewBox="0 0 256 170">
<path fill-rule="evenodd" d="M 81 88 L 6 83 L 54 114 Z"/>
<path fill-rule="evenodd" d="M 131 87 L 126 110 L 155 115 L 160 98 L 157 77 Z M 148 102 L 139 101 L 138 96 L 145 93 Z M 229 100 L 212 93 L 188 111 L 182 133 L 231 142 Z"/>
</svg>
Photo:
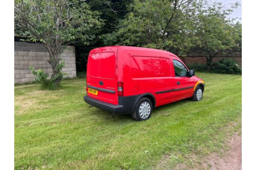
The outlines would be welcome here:
<svg viewBox="0 0 256 170">
<path fill-rule="evenodd" d="M 14 169 L 14 0 L 1 1 L 0 169 Z"/>
</svg>

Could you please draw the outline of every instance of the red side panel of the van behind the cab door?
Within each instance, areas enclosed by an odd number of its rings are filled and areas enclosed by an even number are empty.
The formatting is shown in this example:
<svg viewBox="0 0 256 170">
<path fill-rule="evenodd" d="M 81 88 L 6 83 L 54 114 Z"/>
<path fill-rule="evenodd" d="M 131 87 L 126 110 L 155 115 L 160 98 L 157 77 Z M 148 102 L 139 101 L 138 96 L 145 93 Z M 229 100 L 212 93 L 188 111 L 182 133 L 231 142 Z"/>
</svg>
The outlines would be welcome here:
<svg viewBox="0 0 256 170">
<path fill-rule="evenodd" d="M 119 81 L 123 82 L 124 96 L 151 93 L 155 106 L 174 100 L 174 77 L 168 53 L 119 49 L 118 56 L 121 56 L 118 66 L 122 67 L 118 68 L 118 73 L 122 72 Z M 157 93 L 163 91 L 165 93 Z"/>
</svg>

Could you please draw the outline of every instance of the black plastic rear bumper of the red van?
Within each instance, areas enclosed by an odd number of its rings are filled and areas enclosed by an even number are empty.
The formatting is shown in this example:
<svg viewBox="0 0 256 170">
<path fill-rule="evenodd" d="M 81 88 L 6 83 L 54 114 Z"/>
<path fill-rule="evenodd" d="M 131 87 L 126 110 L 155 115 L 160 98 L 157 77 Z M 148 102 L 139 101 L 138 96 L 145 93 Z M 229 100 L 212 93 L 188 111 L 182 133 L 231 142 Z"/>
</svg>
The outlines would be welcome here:
<svg viewBox="0 0 256 170">
<path fill-rule="evenodd" d="M 91 106 L 97 107 L 102 110 L 109 111 L 111 113 L 117 114 L 131 114 L 133 112 L 135 103 L 139 95 L 128 96 L 128 97 L 119 97 L 118 105 L 102 102 L 96 99 L 93 99 L 89 96 L 84 96 L 84 102 L 87 102 Z"/>
</svg>

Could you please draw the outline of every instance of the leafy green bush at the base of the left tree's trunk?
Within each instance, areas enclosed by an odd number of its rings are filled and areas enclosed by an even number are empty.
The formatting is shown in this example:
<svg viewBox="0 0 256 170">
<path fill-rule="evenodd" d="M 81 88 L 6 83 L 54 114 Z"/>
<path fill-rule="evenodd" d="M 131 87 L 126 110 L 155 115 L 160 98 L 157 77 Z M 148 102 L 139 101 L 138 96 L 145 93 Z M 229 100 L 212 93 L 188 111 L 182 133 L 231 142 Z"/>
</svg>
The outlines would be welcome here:
<svg viewBox="0 0 256 170">
<path fill-rule="evenodd" d="M 64 62 L 57 64 L 55 68 L 57 74 L 51 78 L 48 78 L 49 74 L 46 73 L 45 70 L 42 68 L 35 70 L 34 67 L 29 66 L 29 69 L 31 70 L 32 74 L 35 76 L 35 82 L 41 84 L 42 90 L 55 90 L 59 85 L 59 80 L 62 79 L 64 75 L 67 75 L 67 73 L 64 73 L 61 71 L 64 65 L 65 65 Z"/>
</svg>

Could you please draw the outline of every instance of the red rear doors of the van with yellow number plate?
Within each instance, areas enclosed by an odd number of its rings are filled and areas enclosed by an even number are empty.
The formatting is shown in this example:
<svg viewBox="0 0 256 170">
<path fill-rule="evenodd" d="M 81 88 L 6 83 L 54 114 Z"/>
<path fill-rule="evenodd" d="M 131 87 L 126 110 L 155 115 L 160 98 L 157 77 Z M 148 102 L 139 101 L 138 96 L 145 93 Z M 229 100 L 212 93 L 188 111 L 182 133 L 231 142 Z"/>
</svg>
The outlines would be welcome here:
<svg viewBox="0 0 256 170">
<path fill-rule="evenodd" d="M 102 102 L 118 104 L 116 51 L 93 51 L 87 64 L 87 95 Z"/>
</svg>

